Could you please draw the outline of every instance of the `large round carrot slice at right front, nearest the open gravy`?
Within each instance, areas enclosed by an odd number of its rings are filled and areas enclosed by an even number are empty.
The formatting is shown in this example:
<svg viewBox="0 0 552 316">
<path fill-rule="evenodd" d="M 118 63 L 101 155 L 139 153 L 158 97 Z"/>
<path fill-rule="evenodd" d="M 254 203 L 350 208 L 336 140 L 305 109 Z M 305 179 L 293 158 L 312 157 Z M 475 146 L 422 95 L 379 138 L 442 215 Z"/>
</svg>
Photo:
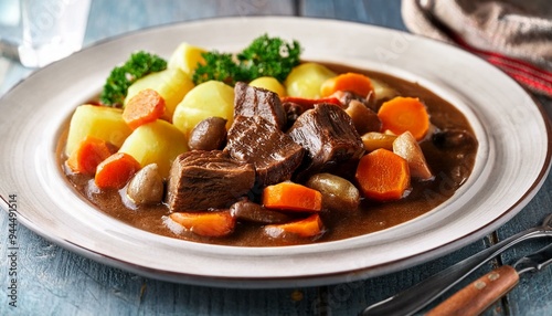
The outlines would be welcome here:
<svg viewBox="0 0 552 316">
<path fill-rule="evenodd" d="M 355 178 L 365 198 L 384 202 L 404 197 L 411 175 L 404 158 L 380 148 L 360 159 Z"/>
</svg>

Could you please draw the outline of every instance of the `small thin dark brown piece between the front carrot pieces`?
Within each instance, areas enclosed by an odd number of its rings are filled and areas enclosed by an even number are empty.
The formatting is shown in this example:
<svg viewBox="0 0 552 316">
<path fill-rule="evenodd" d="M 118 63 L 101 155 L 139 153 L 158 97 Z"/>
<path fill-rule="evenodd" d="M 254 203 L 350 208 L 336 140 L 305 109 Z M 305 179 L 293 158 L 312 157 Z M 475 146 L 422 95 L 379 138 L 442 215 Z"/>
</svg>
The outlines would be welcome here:
<svg viewBox="0 0 552 316">
<path fill-rule="evenodd" d="M 293 220 L 290 215 L 278 211 L 268 210 L 261 204 L 247 199 L 237 201 L 230 207 L 230 213 L 237 220 L 254 222 L 259 224 L 279 224 Z"/>
</svg>

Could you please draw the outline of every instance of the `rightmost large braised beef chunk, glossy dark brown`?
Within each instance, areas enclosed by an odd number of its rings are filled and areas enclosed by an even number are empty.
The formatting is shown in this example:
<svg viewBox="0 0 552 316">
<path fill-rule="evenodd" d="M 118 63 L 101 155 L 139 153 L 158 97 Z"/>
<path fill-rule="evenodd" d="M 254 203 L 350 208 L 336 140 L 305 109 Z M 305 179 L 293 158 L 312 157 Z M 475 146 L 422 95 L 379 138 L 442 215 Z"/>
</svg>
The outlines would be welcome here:
<svg viewBox="0 0 552 316">
<path fill-rule="evenodd" d="M 305 112 L 288 135 L 306 149 L 301 171 L 297 175 L 299 180 L 331 171 L 351 159 L 360 159 L 364 152 L 351 117 L 332 104 L 317 104 L 314 109 Z"/>
</svg>

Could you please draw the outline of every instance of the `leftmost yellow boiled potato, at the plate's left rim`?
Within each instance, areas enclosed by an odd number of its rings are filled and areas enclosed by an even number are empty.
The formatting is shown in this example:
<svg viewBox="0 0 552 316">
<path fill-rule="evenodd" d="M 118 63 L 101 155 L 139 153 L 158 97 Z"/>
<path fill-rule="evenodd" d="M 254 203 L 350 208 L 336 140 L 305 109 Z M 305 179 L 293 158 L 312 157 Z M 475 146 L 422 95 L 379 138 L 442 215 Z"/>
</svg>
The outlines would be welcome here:
<svg viewBox="0 0 552 316">
<path fill-rule="evenodd" d="M 107 106 L 81 105 L 71 117 L 65 154 L 73 152 L 83 139 L 94 136 L 117 147 L 132 130 L 123 120 L 123 110 Z"/>
</svg>

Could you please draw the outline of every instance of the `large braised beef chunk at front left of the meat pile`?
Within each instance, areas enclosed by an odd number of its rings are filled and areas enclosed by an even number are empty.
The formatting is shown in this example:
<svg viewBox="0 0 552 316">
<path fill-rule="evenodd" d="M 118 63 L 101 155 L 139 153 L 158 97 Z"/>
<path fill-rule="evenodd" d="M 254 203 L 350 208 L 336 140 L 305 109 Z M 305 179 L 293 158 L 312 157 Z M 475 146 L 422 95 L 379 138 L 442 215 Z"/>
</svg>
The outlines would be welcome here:
<svg viewBox="0 0 552 316">
<path fill-rule="evenodd" d="M 172 162 L 167 204 L 171 212 L 229 208 L 254 183 L 253 165 L 221 150 L 192 150 Z"/>
</svg>

